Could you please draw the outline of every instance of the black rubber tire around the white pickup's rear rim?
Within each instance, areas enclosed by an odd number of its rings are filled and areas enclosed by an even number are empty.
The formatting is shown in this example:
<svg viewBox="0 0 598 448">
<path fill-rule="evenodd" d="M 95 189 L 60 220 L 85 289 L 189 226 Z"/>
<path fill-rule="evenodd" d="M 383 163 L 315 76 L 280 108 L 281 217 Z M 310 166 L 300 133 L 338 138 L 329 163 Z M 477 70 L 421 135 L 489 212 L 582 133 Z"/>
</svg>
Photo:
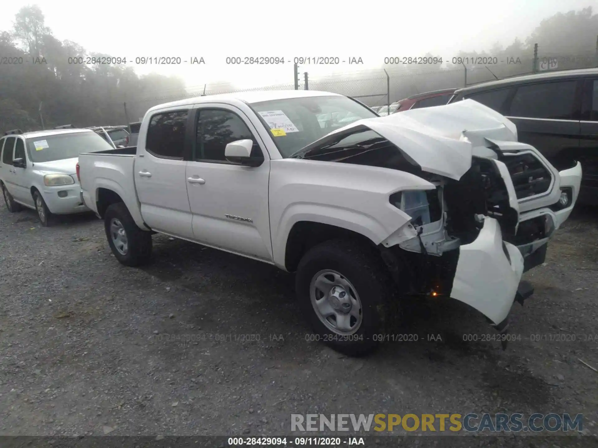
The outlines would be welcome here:
<svg viewBox="0 0 598 448">
<path fill-rule="evenodd" d="M 113 220 L 115 220 L 113 222 Z M 112 224 L 120 223 L 126 238 L 126 250 L 123 246 L 117 248 L 112 238 Z M 110 205 L 104 213 L 104 229 L 108 244 L 116 259 L 125 266 L 141 266 L 151 260 L 152 240 L 151 232 L 141 230 L 133 220 L 124 202 Z M 121 253 L 123 251 L 124 253 Z"/>
</svg>

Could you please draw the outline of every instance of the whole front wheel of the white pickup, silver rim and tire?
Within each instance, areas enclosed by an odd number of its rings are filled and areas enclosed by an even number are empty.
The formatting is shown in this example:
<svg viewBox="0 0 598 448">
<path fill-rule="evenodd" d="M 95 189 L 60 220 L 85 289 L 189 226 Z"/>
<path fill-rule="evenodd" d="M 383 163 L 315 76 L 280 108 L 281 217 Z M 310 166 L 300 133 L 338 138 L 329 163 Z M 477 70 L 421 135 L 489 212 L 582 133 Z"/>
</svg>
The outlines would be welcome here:
<svg viewBox="0 0 598 448">
<path fill-rule="evenodd" d="M 377 348 L 395 292 L 373 248 L 346 240 L 311 248 L 297 268 L 295 290 L 313 339 L 351 356 Z"/>
</svg>

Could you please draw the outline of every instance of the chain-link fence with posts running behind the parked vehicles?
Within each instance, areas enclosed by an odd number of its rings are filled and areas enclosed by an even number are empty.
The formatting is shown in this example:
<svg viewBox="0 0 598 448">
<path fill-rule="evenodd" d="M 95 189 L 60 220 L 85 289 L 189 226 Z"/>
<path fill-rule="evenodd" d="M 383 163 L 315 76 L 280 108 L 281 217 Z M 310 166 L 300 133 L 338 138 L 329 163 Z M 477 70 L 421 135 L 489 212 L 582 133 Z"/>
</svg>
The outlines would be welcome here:
<svg viewBox="0 0 598 448">
<path fill-rule="evenodd" d="M 142 98 L 129 105 L 141 116 L 147 109 L 160 103 L 219 93 L 258 90 L 321 90 L 354 97 L 368 106 L 383 106 L 407 98 L 413 94 L 444 88 L 460 88 L 507 78 L 509 76 L 542 73 L 554 70 L 598 67 L 597 48 L 568 53 L 566 48 L 542 48 L 539 45 L 518 54 L 500 56 L 462 56 L 444 61 L 443 65 L 386 66 L 386 69 L 361 70 L 343 75 L 309 77 L 309 66 L 295 66 L 301 71 L 295 82 L 239 89 L 230 84 L 206 84 L 188 89 L 185 96 L 161 96 Z M 307 75 L 306 73 L 307 72 Z M 136 116 L 136 115 L 135 115 Z"/>
</svg>

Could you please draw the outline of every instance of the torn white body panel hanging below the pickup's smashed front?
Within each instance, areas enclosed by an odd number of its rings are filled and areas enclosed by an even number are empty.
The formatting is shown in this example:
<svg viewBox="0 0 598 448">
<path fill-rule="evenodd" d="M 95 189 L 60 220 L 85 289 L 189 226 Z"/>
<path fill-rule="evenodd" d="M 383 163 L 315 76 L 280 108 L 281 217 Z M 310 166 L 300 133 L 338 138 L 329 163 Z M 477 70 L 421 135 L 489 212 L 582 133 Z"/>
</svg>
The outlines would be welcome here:
<svg viewBox="0 0 598 448">
<path fill-rule="evenodd" d="M 511 309 L 523 274 L 523 256 L 517 247 L 504 243 L 496 219 L 486 217 L 480 234 L 471 244 L 460 246 L 459 261 L 450 297 L 480 311 L 493 323 L 503 321 Z"/>
</svg>

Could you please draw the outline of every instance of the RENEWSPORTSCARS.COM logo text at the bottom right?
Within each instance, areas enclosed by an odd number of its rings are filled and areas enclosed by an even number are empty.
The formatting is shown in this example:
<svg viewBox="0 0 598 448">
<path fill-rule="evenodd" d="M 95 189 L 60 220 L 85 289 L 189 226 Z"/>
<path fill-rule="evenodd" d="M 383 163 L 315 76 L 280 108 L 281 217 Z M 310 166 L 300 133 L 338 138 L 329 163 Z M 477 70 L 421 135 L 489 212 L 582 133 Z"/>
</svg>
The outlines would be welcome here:
<svg viewBox="0 0 598 448">
<path fill-rule="evenodd" d="M 461 414 L 291 414 L 291 431 L 467 431 L 557 432 L 584 429 L 584 416 L 577 414 L 523 413 Z"/>
</svg>

